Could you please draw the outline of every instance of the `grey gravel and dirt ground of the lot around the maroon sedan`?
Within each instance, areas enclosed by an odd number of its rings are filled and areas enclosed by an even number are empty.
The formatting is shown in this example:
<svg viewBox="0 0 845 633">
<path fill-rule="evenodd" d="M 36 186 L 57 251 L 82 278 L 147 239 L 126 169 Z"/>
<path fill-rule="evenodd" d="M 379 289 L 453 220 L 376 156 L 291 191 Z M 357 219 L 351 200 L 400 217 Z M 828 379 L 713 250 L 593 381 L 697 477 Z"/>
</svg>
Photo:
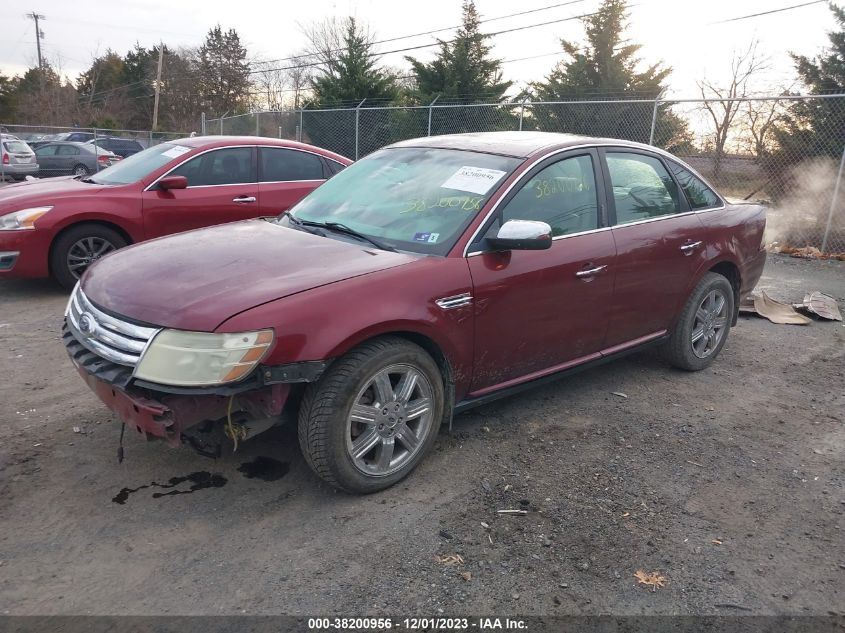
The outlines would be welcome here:
<svg viewBox="0 0 845 633">
<path fill-rule="evenodd" d="M 845 263 L 775 256 L 760 287 L 845 307 Z M 352 497 L 291 428 L 216 461 L 130 435 L 118 465 L 65 301 L 0 282 L 0 613 L 843 613 L 841 323 L 741 318 L 703 372 L 644 352 L 487 405 Z"/>
</svg>

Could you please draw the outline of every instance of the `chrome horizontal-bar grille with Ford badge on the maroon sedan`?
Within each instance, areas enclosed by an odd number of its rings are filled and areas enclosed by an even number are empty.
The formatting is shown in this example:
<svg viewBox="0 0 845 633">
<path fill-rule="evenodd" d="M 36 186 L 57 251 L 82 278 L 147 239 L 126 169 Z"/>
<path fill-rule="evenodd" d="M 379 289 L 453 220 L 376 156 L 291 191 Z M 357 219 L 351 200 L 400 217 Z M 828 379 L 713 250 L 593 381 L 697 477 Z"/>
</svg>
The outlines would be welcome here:
<svg viewBox="0 0 845 633">
<path fill-rule="evenodd" d="M 83 347 L 112 363 L 135 367 L 158 328 L 135 325 L 106 314 L 88 300 L 79 285 L 66 313 L 70 333 Z"/>
</svg>

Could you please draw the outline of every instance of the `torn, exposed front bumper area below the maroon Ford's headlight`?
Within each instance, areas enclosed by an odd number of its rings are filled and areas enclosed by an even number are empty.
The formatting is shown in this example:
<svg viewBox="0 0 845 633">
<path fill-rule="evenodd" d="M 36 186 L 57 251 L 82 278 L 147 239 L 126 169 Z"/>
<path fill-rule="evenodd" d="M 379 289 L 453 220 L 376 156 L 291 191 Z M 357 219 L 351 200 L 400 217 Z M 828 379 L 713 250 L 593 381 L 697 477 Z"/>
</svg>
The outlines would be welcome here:
<svg viewBox="0 0 845 633">
<path fill-rule="evenodd" d="M 79 375 L 97 397 L 146 439 L 171 446 L 188 444 L 208 455 L 220 453 L 215 425 L 234 419 L 239 438 L 247 439 L 281 422 L 292 388 L 317 380 L 325 363 L 258 367 L 245 380 L 213 388 L 170 388 L 133 378 L 133 368 L 118 365 L 85 347 L 65 322 L 62 341 Z"/>
</svg>

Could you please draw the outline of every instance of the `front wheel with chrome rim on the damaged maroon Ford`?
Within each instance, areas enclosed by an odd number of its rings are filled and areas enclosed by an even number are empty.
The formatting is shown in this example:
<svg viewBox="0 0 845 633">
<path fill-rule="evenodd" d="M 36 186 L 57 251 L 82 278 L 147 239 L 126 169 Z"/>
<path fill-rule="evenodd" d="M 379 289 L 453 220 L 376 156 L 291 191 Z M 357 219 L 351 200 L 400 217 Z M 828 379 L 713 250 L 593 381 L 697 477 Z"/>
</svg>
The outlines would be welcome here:
<svg viewBox="0 0 845 633">
<path fill-rule="evenodd" d="M 309 385 L 299 412 L 308 465 L 351 493 L 389 488 L 431 449 L 445 391 L 421 347 L 386 336 L 359 345 Z"/>
</svg>

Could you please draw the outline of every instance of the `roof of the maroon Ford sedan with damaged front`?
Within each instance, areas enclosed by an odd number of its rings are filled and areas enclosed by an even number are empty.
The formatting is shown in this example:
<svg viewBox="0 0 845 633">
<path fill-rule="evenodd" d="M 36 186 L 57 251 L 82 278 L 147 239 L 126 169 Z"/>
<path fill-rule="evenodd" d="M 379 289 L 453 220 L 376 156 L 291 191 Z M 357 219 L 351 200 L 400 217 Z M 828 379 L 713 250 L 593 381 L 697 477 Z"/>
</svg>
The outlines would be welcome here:
<svg viewBox="0 0 845 633">
<path fill-rule="evenodd" d="M 395 147 L 432 147 L 440 149 L 456 149 L 485 154 L 499 154 L 514 158 L 528 158 L 537 153 L 554 149 L 565 149 L 576 145 L 622 145 L 658 151 L 650 145 L 633 143 L 620 139 L 597 138 L 578 134 L 558 134 L 555 132 L 471 132 L 468 134 L 446 134 L 443 136 L 427 136 L 422 138 L 400 141 Z"/>
</svg>

